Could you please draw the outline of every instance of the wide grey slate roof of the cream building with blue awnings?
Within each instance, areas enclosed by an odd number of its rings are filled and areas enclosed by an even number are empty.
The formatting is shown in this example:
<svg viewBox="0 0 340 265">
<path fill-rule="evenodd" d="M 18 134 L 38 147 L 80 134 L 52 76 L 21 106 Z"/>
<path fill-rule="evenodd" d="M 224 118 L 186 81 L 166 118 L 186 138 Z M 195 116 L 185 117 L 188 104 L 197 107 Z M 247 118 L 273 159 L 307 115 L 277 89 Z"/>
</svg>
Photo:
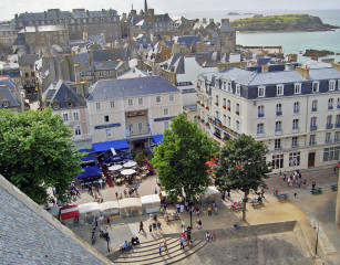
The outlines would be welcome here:
<svg viewBox="0 0 340 265">
<path fill-rule="evenodd" d="M 111 98 L 136 97 L 179 92 L 161 76 L 146 76 L 127 80 L 104 80 L 96 82 L 89 95 L 89 102 Z"/>
</svg>

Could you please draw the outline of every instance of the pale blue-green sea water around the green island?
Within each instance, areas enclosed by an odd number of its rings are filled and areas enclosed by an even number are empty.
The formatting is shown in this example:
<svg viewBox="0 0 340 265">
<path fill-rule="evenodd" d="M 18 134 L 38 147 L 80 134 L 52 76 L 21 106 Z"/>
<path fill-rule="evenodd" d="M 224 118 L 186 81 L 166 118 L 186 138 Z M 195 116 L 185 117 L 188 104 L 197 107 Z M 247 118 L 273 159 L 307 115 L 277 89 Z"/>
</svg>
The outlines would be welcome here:
<svg viewBox="0 0 340 265">
<path fill-rule="evenodd" d="M 238 12 L 240 15 L 227 15 L 228 12 Z M 250 13 L 250 14 L 245 14 Z M 264 15 L 285 14 L 285 13 L 308 13 L 319 17 L 323 23 L 340 26 L 340 9 L 338 10 L 269 10 L 269 11 L 240 11 L 240 10 L 219 10 L 207 12 L 190 12 L 183 13 L 187 19 L 207 18 L 215 19 L 215 22 L 223 18 L 228 18 L 230 21 L 236 19 L 249 18 L 254 13 Z M 237 33 L 236 43 L 248 46 L 275 45 L 284 46 L 285 53 L 298 53 L 299 62 L 303 63 L 309 57 L 303 57 L 300 53 L 307 49 L 328 50 L 334 53 L 340 53 L 340 29 L 334 31 L 321 32 L 262 32 L 262 33 Z M 330 55 L 336 62 L 340 62 L 340 55 Z"/>
</svg>

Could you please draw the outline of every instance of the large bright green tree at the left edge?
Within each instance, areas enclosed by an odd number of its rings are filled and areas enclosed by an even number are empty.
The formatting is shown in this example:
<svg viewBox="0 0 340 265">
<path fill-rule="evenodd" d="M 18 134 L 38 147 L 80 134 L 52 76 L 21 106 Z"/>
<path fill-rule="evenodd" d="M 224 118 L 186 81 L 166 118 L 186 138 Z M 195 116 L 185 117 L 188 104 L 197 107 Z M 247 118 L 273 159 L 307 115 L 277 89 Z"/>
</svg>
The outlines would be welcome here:
<svg viewBox="0 0 340 265">
<path fill-rule="evenodd" d="M 81 172 L 81 155 L 72 132 L 51 109 L 13 113 L 0 109 L 0 173 L 39 204 L 47 188 L 59 195 Z"/>
</svg>

